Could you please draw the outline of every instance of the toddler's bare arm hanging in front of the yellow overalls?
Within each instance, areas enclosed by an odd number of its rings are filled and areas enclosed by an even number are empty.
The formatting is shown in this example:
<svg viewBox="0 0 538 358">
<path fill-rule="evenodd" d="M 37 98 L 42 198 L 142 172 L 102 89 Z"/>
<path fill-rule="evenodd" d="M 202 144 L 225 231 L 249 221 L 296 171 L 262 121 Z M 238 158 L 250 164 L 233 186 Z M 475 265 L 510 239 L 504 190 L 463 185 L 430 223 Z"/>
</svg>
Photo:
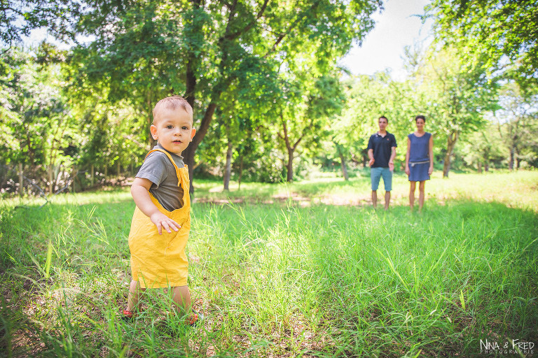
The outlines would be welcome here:
<svg viewBox="0 0 538 358">
<path fill-rule="evenodd" d="M 135 181 L 132 182 L 131 185 L 132 199 L 135 200 L 135 204 L 137 204 L 140 211 L 147 215 L 151 222 L 156 225 L 159 235 L 163 234 L 163 228 L 168 231 L 169 234 L 172 232 L 170 229 L 178 231 L 181 228 L 181 225 L 161 213 L 153 201 L 151 201 L 149 196 L 149 188 L 151 187 L 151 184 L 151 180 L 135 178 Z"/>
</svg>

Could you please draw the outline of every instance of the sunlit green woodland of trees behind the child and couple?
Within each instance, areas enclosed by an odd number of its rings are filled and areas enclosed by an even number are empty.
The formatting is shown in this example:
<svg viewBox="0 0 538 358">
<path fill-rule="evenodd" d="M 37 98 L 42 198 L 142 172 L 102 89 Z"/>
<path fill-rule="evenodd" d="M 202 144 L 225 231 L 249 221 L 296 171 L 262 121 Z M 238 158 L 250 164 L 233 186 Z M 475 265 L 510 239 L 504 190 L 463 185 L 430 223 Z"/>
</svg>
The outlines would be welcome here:
<svg viewBox="0 0 538 358">
<path fill-rule="evenodd" d="M 443 176 L 536 168 L 537 8 L 433 1 L 435 40 L 406 50 L 401 81 L 338 66 L 382 1 L 4 1 L 0 196 L 125 184 L 154 144 L 151 110 L 170 94 L 195 109 L 184 152 L 194 185 L 347 178 L 365 166 L 380 115 L 399 144 L 396 171 L 418 114 Z M 43 27 L 69 49 L 25 47 Z"/>
</svg>

